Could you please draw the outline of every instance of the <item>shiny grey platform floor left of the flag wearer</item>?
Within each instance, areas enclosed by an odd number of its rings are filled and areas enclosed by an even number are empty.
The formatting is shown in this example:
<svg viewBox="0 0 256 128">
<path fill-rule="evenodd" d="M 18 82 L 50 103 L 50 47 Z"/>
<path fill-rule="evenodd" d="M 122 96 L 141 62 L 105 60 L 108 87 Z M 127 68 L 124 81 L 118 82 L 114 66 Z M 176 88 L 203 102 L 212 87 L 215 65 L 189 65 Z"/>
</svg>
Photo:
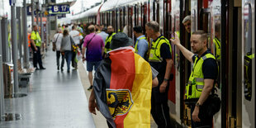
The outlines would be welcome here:
<svg viewBox="0 0 256 128">
<path fill-rule="evenodd" d="M 26 97 L 5 99 L 5 112 L 21 114 L 21 120 L 0 121 L 1 128 L 95 127 L 78 70 L 57 71 L 55 54 L 48 51 L 46 69 L 33 73 L 30 86 L 21 88 Z"/>
</svg>

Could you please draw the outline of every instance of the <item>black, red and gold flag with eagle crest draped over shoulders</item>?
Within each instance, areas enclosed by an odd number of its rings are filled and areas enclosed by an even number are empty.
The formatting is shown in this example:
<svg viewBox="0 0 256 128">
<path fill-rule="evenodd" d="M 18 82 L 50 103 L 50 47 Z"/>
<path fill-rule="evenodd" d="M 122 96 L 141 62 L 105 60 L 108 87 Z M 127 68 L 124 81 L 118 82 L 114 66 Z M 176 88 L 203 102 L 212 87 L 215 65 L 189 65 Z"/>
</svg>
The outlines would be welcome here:
<svg viewBox="0 0 256 128">
<path fill-rule="evenodd" d="M 114 50 L 97 69 L 97 106 L 113 127 L 150 127 L 152 72 L 133 50 Z"/>
</svg>

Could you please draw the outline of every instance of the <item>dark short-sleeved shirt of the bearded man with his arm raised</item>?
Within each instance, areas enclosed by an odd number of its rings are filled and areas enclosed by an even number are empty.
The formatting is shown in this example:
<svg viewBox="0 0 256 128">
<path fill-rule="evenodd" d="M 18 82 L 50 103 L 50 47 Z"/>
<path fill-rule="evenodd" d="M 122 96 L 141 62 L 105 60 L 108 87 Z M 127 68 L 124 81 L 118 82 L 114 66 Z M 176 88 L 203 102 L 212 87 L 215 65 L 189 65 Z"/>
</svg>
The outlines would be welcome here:
<svg viewBox="0 0 256 128">
<path fill-rule="evenodd" d="M 206 50 L 206 52 L 203 53 L 201 56 L 204 56 L 206 54 L 211 54 L 211 50 Z M 192 57 L 193 62 L 195 62 L 196 56 L 197 55 L 194 55 Z M 216 59 L 205 59 L 202 64 L 202 73 L 204 75 L 204 79 L 216 80 L 218 77 L 218 64 L 216 62 Z"/>
</svg>

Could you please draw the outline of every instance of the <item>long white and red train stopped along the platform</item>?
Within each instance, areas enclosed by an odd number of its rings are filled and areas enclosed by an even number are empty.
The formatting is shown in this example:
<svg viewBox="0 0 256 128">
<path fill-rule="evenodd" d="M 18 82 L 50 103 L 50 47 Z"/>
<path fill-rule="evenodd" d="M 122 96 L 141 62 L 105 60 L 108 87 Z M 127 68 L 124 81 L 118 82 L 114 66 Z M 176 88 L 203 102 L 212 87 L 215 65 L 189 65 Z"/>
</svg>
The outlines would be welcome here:
<svg viewBox="0 0 256 128">
<path fill-rule="evenodd" d="M 115 31 L 157 21 L 160 33 L 170 39 L 179 32 L 182 44 L 190 47 L 190 33 L 183 18 L 191 16 L 191 33 L 208 34 L 208 48 L 216 55 L 215 40 L 220 41 L 217 93 L 221 109 L 213 127 L 255 127 L 255 0 L 107 0 L 73 15 L 72 22 L 105 24 Z M 192 70 L 180 51 L 172 45 L 175 74 L 168 90 L 169 114 L 177 126 L 190 126 L 190 109 L 184 103 L 185 84 Z"/>
</svg>

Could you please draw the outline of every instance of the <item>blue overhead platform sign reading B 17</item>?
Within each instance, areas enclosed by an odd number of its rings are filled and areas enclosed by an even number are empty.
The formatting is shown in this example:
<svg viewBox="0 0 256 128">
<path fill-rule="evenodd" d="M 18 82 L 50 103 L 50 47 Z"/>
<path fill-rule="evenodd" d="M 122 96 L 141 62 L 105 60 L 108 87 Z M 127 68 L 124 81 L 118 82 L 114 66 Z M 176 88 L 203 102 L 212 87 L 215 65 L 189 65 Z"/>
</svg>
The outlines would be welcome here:
<svg viewBox="0 0 256 128">
<path fill-rule="evenodd" d="M 67 13 L 70 13 L 68 4 L 52 5 L 52 6 L 49 6 L 48 9 L 49 9 L 49 14 L 67 14 Z"/>
</svg>

